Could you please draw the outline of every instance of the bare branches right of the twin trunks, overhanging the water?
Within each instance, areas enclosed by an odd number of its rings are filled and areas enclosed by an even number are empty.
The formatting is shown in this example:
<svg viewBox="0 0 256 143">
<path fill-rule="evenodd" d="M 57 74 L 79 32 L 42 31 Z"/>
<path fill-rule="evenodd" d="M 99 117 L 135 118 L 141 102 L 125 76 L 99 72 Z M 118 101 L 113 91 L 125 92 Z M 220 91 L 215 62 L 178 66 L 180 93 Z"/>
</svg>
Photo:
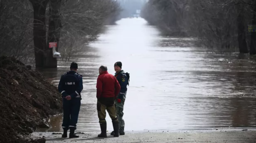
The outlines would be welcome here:
<svg viewBox="0 0 256 143">
<path fill-rule="evenodd" d="M 85 45 L 98 38 L 104 24 L 111 16 L 118 15 L 119 11 L 119 4 L 113 0 L 63 1 L 61 7 L 63 27 L 59 49 L 63 60 L 68 61 Z"/>
</svg>

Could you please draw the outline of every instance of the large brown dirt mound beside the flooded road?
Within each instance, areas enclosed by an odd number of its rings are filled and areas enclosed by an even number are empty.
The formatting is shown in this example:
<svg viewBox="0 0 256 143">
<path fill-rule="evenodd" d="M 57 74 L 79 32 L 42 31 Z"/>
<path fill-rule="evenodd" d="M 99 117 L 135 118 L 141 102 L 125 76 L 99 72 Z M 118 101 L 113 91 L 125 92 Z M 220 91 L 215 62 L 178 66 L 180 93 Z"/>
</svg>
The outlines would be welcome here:
<svg viewBox="0 0 256 143">
<path fill-rule="evenodd" d="M 57 88 L 15 58 L 0 57 L 0 98 L 0 143 L 24 142 L 43 119 L 62 113 Z"/>
</svg>

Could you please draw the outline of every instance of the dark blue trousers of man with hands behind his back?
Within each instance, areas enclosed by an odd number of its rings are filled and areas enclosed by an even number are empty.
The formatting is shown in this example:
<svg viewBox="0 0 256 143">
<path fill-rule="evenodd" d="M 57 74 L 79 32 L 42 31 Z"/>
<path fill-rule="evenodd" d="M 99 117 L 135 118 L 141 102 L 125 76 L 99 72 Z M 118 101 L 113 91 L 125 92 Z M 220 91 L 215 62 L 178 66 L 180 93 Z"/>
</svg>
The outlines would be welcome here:
<svg viewBox="0 0 256 143">
<path fill-rule="evenodd" d="M 63 129 L 76 129 L 80 106 L 81 98 L 73 98 L 71 100 L 63 98 Z"/>
</svg>

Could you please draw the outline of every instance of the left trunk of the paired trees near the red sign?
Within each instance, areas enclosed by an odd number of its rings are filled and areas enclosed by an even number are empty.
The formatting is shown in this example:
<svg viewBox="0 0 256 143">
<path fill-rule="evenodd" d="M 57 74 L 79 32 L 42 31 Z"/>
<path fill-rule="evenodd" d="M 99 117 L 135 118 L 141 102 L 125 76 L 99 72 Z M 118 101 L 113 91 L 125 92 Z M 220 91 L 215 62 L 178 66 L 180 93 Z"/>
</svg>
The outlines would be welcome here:
<svg viewBox="0 0 256 143">
<path fill-rule="evenodd" d="M 44 66 L 44 50 L 46 49 L 46 5 L 48 0 L 30 1 L 34 10 L 33 36 L 36 68 Z"/>
</svg>

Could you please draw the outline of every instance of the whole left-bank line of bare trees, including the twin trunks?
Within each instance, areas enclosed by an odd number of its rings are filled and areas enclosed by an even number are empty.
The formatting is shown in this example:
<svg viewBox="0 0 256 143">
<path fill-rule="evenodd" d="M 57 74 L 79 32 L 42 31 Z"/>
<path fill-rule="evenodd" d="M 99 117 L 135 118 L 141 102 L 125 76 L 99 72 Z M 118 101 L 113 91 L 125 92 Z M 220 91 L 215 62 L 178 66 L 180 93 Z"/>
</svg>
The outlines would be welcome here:
<svg viewBox="0 0 256 143">
<path fill-rule="evenodd" d="M 0 56 L 56 67 L 49 42 L 67 61 L 120 12 L 114 0 L 0 0 Z"/>
</svg>

